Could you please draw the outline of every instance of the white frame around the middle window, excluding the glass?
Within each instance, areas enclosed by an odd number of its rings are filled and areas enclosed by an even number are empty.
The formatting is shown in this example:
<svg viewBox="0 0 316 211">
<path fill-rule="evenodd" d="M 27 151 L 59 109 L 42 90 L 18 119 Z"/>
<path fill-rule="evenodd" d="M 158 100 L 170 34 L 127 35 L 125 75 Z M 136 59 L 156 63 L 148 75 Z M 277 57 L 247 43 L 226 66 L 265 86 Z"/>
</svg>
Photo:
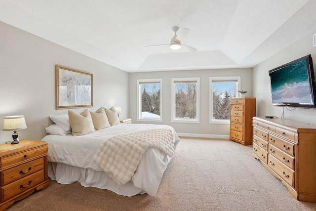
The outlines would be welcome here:
<svg viewBox="0 0 316 211">
<path fill-rule="evenodd" d="M 175 83 L 196 82 L 197 83 L 197 119 L 176 119 L 175 118 Z M 172 123 L 199 123 L 200 107 L 200 83 L 199 78 L 172 78 L 171 79 L 171 122 Z"/>
</svg>

